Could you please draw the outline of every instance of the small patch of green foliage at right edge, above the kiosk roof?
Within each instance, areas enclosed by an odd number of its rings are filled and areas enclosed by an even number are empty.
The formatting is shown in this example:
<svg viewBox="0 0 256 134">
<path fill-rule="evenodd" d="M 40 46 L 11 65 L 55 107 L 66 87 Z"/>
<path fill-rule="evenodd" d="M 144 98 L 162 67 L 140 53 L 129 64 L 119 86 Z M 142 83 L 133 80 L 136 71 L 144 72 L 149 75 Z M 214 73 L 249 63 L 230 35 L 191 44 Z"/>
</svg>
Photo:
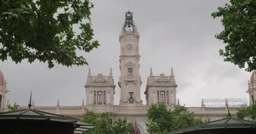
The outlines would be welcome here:
<svg viewBox="0 0 256 134">
<path fill-rule="evenodd" d="M 254 104 L 248 107 L 238 109 L 236 116 L 238 119 L 244 119 L 245 117 L 249 117 L 251 120 L 256 121 L 256 101 Z"/>
</svg>

